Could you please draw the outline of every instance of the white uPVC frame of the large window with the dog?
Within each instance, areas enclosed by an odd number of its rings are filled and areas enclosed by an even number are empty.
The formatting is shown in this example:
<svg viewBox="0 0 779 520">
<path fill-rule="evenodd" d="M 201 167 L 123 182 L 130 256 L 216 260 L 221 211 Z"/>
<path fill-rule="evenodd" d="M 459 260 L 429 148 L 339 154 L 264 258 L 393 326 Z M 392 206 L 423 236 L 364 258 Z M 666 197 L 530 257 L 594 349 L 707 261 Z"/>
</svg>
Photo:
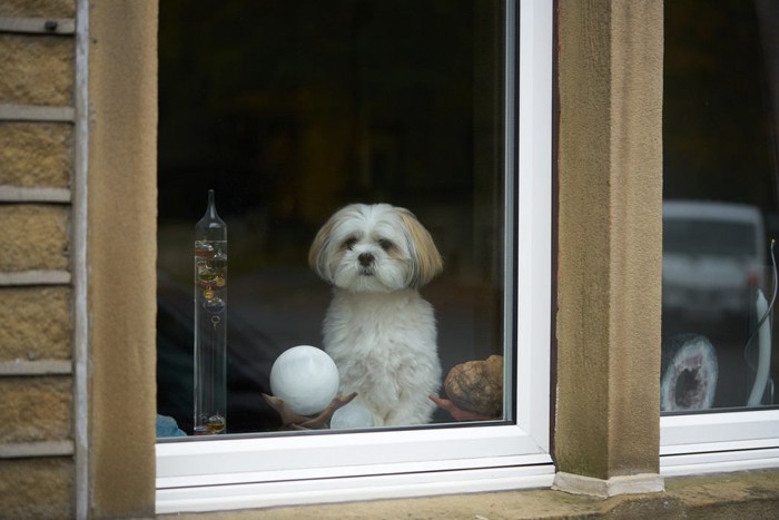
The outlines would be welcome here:
<svg viewBox="0 0 779 520">
<path fill-rule="evenodd" d="M 552 38 L 553 2 L 506 1 L 506 118 L 520 114 L 505 143 L 515 423 L 161 442 L 158 513 L 551 485 Z"/>
</svg>

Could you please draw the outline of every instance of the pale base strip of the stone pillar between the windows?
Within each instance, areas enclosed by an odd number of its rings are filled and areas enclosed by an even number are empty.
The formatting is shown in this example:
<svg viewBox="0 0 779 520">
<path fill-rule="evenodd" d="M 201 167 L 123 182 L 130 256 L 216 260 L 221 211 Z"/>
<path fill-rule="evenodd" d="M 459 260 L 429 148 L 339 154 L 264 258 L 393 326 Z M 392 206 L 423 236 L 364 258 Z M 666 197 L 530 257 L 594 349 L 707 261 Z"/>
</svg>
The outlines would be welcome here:
<svg viewBox="0 0 779 520">
<path fill-rule="evenodd" d="M 552 489 L 572 494 L 608 498 L 619 494 L 658 493 L 664 491 L 665 485 L 662 477 L 651 473 L 603 480 L 560 471 L 554 475 Z"/>
</svg>

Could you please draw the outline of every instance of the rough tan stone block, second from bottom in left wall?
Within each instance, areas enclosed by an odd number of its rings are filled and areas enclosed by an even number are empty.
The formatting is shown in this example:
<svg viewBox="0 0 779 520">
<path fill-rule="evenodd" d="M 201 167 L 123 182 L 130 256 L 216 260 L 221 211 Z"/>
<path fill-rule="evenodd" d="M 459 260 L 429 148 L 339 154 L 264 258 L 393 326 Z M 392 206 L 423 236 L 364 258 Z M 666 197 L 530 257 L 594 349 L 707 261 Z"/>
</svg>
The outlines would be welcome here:
<svg viewBox="0 0 779 520">
<path fill-rule="evenodd" d="M 0 377 L 0 443 L 70 439 L 71 390 L 69 375 Z"/>
</svg>

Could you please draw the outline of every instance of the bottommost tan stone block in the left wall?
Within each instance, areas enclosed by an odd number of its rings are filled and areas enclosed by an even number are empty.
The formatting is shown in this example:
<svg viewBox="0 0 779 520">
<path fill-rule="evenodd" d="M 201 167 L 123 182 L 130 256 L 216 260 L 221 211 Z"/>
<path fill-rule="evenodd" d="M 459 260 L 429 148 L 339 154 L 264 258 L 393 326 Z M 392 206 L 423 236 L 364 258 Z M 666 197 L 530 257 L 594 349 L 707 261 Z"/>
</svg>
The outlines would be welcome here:
<svg viewBox="0 0 779 520">
<path fill-rule="evenodd" d="M 0 461 L 0 517 L 75 518 L 70 458 Z"/>
</svg>

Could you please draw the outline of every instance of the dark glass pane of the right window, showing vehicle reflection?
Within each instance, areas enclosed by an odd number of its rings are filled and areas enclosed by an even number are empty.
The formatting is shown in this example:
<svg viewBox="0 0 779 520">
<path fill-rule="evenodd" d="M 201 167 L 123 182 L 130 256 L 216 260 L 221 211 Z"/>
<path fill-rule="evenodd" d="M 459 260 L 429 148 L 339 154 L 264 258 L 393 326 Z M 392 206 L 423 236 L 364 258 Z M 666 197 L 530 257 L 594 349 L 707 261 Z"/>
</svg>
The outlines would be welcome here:
<svg viewBox="0 0 779 520">
<path fill-rule="evenodd" d="M 661 408 L 779 404 L 779 6 L 665 2 L 664 70 Z"/>
</svg>

